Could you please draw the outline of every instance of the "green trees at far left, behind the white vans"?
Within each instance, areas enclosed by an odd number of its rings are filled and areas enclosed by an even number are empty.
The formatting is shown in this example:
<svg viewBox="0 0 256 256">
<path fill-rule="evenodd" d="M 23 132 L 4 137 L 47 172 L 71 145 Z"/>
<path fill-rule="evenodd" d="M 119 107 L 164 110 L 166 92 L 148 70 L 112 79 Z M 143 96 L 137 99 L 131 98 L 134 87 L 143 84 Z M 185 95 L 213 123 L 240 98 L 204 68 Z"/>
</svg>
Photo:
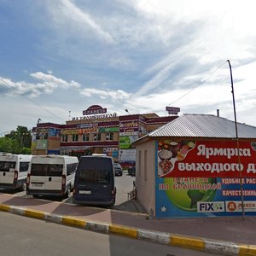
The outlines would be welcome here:
<svg viewBox="0 0 256 256">
<path fill-rule="evenodd" d="M 18 126 L 5 137 L 0 137 L 0 152 L 31 154 L 32 135 L 25 126 Z"/>
</svg>

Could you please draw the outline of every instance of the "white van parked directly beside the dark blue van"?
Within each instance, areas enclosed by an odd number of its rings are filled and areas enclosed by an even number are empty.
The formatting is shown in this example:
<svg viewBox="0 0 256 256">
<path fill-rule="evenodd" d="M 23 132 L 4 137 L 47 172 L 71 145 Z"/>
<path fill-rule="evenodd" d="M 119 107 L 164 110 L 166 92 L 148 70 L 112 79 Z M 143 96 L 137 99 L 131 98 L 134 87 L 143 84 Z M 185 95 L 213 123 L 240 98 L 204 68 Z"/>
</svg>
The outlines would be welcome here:
<svg viewBox="0 0 256 256">
<path fill-rule="evenodd" d="M 79 160 L 68 155 L 33 155 L 27 172 L 26 194 L 69 197 Z"/>
</svg>

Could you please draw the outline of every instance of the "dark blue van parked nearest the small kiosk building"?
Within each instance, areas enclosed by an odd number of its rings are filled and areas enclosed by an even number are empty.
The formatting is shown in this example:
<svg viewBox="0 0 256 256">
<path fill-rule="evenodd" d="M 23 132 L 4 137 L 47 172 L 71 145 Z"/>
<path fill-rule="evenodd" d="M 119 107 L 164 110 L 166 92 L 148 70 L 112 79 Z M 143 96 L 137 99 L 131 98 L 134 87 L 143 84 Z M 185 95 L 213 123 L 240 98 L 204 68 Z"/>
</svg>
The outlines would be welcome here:
<svg viewBox="0 0 256 256">
<path fill-rule="evenodd" d="M 73 189 L 73 203 L 111 207 L 115 203 L 115 195 L 112 157 L 80 157 Z"/>
</svg>

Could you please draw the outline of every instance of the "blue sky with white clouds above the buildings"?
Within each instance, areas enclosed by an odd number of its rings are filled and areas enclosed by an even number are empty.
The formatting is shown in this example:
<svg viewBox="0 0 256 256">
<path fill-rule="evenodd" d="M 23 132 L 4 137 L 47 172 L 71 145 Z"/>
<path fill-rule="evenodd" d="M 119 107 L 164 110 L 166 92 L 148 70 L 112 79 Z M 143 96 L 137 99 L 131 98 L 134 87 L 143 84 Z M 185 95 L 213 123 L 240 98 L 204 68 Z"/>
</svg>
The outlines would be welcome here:
<svg viewBox="0 0 256 256">
<path fill-rule="evenodd" d="M 0 0 L 0 136 L 38 119 L 65 124 L 92 105 L 117 115 L 219 109 L 235 120 L 233 95 L 237 122 L 256 126 L 254 7 L 253 0 Z"/>
</svg>

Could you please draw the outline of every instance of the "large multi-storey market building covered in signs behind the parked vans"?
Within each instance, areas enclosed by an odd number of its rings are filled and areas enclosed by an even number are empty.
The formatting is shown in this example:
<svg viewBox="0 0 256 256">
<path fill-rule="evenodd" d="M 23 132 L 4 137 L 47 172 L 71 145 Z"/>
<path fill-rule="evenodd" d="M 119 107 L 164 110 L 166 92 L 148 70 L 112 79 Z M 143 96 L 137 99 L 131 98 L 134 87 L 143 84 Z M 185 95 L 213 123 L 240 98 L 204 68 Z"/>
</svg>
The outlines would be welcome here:
<svg viewBox="0 0 256 256">
<path fill-rule="evenodd" d="M 160 117 L 156 113 L 118 116 L 93 105 L 65 125 L 38 122 L 32 129 L 32 154 L 108 154 L 122 166 L 135 165 L 132 143 L 176 118 L 177 115 Z"/>
</svg>

